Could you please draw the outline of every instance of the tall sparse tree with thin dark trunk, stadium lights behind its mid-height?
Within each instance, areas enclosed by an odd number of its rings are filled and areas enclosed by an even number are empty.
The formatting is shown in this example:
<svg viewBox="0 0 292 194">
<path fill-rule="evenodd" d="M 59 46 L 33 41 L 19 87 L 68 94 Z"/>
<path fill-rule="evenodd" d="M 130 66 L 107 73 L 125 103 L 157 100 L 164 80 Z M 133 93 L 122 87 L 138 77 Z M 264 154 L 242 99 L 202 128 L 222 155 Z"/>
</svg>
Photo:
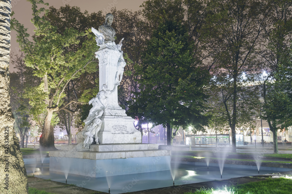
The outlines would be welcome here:
<svg viewBox="0 0 292 194">
<path fill-rule="evenodd" d="M 261 1 L 208 1 L 209 10 L 204 40 L 212 53 L 210 67 L 214 76 L 213 88 L 220 87 L 220 97 L 225 106 L 228 125 L 232 131 L 232 152 L 236 152 L 235 127 L 239 122 L 242 95 L 252 94 L 248 84 L 260 65 L 255 54 L 259 49 L 260 35 L 267 20 L 266 4 Z M 245 77 L 245 74 L 249 76 Z M 212 89 L 213 89 L 212 88 Z M 241 98 L 241 100 L 239 100 Z"/>
</svg>

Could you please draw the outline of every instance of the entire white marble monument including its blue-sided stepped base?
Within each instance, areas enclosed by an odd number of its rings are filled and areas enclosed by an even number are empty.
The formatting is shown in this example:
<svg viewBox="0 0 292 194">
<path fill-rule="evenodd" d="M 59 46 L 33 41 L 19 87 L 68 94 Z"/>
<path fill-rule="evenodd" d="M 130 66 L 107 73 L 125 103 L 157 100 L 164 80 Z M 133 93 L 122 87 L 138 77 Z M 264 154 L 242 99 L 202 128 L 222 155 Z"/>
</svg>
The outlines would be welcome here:
<svg viewBox="0 0 292 194">
<path fill-rule="evenodd" d="M 142 144 L 134 119 L 118 104 L 117 87 L 126 62 L 121 50 L 123 39 L 118 45 L 114 42 L 113 19 L 108 13 L 98 30 L 92 28 L 100 46 L 95 52 L 99 92 L 89 101 L 93 107 L 84 120 L 84 129 L 77 134 L 78 144 L 62 145 L 61 150 L 49 152 L 51 171 L 65 172 L 62 164 L 68 162 L 70 174 L 90 177 L 169 170 L 171 151 L 158 149 L 157 144 Z"/>
</svg>

